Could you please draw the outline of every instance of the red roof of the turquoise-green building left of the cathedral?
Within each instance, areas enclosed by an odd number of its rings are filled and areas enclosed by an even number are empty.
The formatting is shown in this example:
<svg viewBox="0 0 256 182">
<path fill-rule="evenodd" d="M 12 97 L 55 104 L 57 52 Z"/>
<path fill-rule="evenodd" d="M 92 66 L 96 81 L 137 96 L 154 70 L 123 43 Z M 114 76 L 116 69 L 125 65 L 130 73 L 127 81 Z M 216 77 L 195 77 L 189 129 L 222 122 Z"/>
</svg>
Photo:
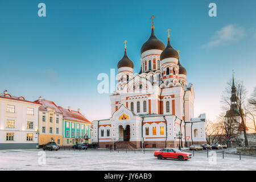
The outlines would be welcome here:
<svg viewBox="0 0 256 182">
<path fill-rule="evenodd" d="M 61 113 L 63 113 L 64 119 L 71 119 L 71 120 L 80 121 L 80 122 L 92 123 L 88 119 L 86 119 L 81 113 L 79 113 L 79 111 L 64 109 L 61 106 L 59 106 L 59 109 Z"/>
</svg>

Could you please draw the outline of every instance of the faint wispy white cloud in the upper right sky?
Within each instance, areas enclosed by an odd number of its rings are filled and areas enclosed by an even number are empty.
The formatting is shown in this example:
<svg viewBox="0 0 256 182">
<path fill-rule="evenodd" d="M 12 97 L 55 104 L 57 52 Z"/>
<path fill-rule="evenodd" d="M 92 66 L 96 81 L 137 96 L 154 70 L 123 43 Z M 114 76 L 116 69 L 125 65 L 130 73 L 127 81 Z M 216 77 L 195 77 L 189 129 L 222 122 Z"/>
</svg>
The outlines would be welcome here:
<svg viewBox="0 0 256 182">
<path fill-rule="evenodd" d="M 241 39 L 245 35 L 243 27 L 238 27 L 234 24 L 229 24 L 214 32 L 210 42 L 201 46 L 202 48 L 213 48 L 220 45 L 228 44 Z"/>
</svg>

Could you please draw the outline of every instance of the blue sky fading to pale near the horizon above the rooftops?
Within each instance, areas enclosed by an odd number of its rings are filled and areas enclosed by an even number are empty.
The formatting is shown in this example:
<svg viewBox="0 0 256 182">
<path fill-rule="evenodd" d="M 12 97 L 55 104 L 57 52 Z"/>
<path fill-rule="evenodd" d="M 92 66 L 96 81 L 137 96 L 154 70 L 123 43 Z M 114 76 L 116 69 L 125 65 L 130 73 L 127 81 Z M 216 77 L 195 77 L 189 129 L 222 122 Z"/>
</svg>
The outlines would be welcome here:
<svg viewBox="0 0 256 182">
<path fill-rule="evenodd" d="M 38 4 L 46 3 L 46 17 Z M 215 2 L 217 17 L 209 17 Z M 151 31 L 181 50 L 195 88 L 195 116 L 221 112 L 220 96 L 232 77 L 249 93 L 256 86 L 256 1 L 0 1 L 0 90 L 63 107 L 88 119 L 110 117 L 109 94 L 97 93 L 100 73 L 117 71 L 127 53 L 139 72 L 141 46 Z M 99 112 L 100 111 L 100 112 Z"/>
</svg>

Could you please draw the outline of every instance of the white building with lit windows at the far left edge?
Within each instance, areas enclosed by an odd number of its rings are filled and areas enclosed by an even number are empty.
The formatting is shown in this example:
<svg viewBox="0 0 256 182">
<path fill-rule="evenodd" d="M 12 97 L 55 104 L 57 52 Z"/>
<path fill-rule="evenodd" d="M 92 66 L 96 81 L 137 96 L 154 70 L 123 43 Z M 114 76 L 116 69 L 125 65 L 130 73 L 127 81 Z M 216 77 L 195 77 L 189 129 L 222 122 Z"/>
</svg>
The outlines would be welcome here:
<svg viewBox="0 0 256 182">
<path fill-rule="evenodd" d="M 40 104 L 0 94 L 0 149 L 36 148 Z"/>
</svg>

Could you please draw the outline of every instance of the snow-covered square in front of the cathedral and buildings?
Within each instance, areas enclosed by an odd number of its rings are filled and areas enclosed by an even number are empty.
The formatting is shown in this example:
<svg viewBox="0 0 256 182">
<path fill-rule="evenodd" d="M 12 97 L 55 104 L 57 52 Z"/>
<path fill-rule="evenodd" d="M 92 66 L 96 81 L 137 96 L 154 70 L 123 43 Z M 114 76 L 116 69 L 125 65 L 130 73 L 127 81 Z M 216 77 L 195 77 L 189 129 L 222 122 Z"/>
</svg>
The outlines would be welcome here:
<svg viewBox="0 0 256 182">
<path fill-rule="evenodd" d="M 222 153 L 213 150 L 207 158 L 205 151 L 199 151 L 180 162 L 158 160 L 153 152 L 0 150 L 0 170 L 256 170 L 256 156 L 242 155 L 240 160 L 239 155 L 225 154 L 222 159 Z"/>
</svg>

